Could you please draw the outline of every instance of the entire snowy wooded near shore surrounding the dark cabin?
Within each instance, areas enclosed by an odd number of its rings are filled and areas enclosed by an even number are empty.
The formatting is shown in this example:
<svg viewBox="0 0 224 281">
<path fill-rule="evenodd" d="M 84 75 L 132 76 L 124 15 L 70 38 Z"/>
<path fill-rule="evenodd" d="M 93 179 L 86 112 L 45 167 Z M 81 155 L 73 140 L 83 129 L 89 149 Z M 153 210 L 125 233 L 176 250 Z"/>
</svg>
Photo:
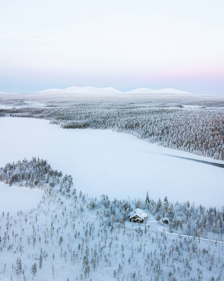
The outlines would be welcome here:
<svg viewBox="0 0 224 281">
<path fill-rule="evenodd" d="M 0 216 L 1 280 L 224 278 L 224 208 L 155 200 L 150 190 L 144 199 L 90 198 L 39 157 L 7 163 L 0 181 L 43 190 L 29 212 Z M 143 224 L 129 222 L 135 208 L 147 213 Z"/>
</svg>

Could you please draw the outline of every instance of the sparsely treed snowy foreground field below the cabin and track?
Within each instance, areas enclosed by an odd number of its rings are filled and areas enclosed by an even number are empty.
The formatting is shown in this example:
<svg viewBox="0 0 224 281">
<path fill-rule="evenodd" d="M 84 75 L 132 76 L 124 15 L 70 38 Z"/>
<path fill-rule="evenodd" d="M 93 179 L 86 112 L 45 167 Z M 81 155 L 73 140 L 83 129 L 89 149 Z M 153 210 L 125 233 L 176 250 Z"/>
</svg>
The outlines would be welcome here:
<svg viewBox="0 0 224 281">
<path fill-rule="evenodd" d="M 7 193 L 2 200 L 8 202 Z M 147 210 L 145 225 L 126 220 L 122 229 L 117 224 L 121 202 L 104 207 L 102 198 L 91 210 L 89 200 L 82 193 L 68 199 L 51 191 L 31 211 L 21 206 L 19 214 L 1 214 L 1 280 L 223 280 L 222 242 L 211 240 L 211 234 L 199 244 L 191 236 L 168 233 Z"/>
</svg>

